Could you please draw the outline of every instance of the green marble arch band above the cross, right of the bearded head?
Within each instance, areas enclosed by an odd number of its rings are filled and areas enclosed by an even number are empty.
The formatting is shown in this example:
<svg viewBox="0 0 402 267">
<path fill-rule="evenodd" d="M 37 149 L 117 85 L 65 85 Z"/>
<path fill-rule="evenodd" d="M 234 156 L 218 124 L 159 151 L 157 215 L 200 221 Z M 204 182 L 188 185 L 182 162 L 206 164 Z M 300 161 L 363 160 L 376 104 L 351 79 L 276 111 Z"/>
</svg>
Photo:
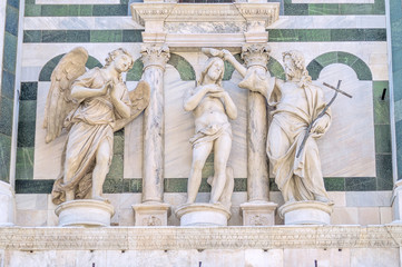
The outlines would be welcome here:
<svg viewBox="0 0 402 267">
<path fill-rule="evenodd" d="M 316 57 L 307 66 L 308 73 L 313 80 L 316 80 L 321 71 L 332 63 L 343 63 L 351 67 L 357 75 L 359 80 L 373 79 L 369 66 L 363 60 L 352 53 L 342 51 L 327 52 Z"/>
</svg>

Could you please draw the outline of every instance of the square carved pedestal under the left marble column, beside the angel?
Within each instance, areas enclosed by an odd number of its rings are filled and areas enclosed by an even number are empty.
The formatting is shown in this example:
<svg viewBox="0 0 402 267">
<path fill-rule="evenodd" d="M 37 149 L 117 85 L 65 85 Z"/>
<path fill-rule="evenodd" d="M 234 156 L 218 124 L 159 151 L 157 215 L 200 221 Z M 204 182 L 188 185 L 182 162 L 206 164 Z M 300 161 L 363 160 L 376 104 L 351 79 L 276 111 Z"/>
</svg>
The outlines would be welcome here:
<svg viewBox="0 0 402 267">
<path fill-rule="evenodd" d="M 167 226 L 170 205 L 165 202 L 143 202 L 131 206 L 135 226 Z"/>
</svg>

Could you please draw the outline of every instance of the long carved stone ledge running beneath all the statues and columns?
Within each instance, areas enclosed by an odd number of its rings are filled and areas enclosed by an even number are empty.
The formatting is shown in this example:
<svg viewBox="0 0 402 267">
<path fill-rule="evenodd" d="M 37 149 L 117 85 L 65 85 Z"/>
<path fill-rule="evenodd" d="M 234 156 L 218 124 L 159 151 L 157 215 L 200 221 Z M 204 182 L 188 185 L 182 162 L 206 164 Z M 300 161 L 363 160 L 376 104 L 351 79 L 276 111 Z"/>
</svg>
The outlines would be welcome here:
<svg viewBox="0 0 402 267">
<path fill-rule="evenodd" d="M 273 227 L 0 228 L 0 249 L 398 248 L 402 225 Z"/>
</svg>

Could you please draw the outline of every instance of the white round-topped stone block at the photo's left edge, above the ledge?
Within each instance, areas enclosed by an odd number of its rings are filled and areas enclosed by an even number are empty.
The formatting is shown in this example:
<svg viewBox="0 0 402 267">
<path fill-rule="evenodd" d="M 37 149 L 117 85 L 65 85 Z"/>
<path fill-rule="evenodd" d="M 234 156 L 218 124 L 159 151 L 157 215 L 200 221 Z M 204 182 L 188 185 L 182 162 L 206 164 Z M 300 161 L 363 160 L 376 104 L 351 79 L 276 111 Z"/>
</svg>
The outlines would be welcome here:
<svg viewBox="0 0 402 267">
<path fill-rule="evenodd" d="M 12 187 L 0 181 L 0 226 L 13 226 L 16 201 Z"/>
</svg>

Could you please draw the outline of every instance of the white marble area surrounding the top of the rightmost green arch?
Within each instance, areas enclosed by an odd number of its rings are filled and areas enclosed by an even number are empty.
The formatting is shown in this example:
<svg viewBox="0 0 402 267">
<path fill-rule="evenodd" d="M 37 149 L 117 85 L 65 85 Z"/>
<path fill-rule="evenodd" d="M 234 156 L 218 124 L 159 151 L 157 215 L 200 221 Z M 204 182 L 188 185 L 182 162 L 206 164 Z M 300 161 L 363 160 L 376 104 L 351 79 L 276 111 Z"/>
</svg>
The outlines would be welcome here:
<svg viewBox="0 0 402 267">
<path fill-rule="evenodd" d="M 386 42 L 269 42 L 271 56 L 282 63 L 282 52 L 300 50 L 304 53 L 305 62 L 308 63 L 316 57 L 333 51 L 344 51 L 361 58 L 371 69 L 375 80 L 388 80 L 388 61 L 383 63 L 370 63 L 373 53 L 388 51 Z M 374 67 L 373 67 L 374 66 Z M 380 68 L 381 67 L 381 68 Z"/>
</svg>

